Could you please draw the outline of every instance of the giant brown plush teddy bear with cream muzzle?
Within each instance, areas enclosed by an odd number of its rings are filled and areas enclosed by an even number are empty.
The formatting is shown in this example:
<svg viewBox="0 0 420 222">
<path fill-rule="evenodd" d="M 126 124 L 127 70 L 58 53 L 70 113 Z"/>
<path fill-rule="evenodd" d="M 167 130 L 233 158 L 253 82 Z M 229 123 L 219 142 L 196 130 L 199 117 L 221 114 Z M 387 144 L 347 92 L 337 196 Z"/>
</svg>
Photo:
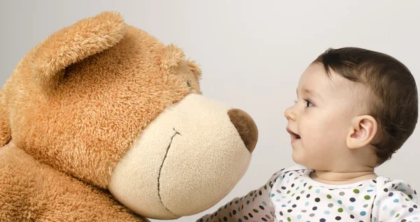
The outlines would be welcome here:
<svg viewBox="0 0 420 222">
<path fill-rule="evenodd" d="M 200 213 L 244 175 L 246 112 L 201 95 L 174 45 L 104 12 L 61 29 L 0 91 L 0 221 L 147 221 Z"/>
</svg>

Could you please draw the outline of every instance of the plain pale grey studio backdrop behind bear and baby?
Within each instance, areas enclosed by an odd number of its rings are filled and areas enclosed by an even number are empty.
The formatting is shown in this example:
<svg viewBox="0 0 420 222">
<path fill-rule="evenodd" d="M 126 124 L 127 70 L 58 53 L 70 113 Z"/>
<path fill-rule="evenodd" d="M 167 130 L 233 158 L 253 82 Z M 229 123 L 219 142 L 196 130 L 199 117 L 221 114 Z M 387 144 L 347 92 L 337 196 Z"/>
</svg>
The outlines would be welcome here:
<svg viewBox="0 0 420 222">
<path fill-rule="evenodd" d="M 183 48 L 202 67 L 202 91 L 245 110 L 260 137 L 248 171 L 221 202 L 293 165 L 283 112 L 301 73 L 328 47 L 365 47 L 402 61 L 420 84 L 420 1 L 0 1 L 0 86 L 31 47 L 74 22 L 117 10 L 125 22 Z M 401 98 L 404 99 L 404 98 Z M 379 175 L 420 190 L 417 129 Z"/>
</svg>

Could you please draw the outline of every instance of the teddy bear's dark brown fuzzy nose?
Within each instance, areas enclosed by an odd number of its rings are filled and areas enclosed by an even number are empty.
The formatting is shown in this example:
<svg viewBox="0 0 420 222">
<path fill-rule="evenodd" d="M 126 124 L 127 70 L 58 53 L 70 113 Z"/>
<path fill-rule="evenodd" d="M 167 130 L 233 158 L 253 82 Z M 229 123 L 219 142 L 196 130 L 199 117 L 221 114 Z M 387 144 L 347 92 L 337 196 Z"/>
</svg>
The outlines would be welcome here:
<svg viewBox="0 0 420 222">
<path fill-rule="evenodd" d="M 243 110 L 232 109 L 228 111 L 230 121 L 237 128 L 250 153 L 255 149 L 258 140 L 258 128 L 251 116 Z"/>
</svg>

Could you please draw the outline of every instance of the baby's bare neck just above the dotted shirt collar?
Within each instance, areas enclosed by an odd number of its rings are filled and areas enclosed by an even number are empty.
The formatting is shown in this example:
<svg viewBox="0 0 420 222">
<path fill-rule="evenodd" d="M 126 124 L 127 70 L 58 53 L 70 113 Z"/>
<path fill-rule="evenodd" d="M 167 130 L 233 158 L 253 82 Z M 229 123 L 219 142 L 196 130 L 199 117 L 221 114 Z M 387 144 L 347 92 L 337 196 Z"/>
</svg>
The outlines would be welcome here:
<svg viewBox="0 0 420 222">
<path fill-rule="evenodd" d="M 333 172 L 326 170 L 314 170 L 311 179 L 323 184 L 342 185 L 362 182 L 367 179 L 376 179 L 374 168 L 366 168 L 355 172 Z"/>
</svg>

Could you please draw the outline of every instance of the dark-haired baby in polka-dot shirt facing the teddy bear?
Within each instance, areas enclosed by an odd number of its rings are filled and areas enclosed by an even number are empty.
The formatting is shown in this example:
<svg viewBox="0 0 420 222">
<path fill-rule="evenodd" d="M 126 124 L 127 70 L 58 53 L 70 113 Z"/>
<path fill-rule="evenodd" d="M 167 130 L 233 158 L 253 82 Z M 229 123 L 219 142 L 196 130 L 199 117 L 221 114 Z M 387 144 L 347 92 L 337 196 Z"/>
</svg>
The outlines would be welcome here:
<svg viewBox="0 0 420 222">
<path fill-rule="evenodd" d="M 285 112 L 298 165 L 197 221 L 420 221 L 414 188 L 374 172 L 412 135 L 417 116 L 416 83 L 400 61 L 327 50 Z"/>
</svg>

